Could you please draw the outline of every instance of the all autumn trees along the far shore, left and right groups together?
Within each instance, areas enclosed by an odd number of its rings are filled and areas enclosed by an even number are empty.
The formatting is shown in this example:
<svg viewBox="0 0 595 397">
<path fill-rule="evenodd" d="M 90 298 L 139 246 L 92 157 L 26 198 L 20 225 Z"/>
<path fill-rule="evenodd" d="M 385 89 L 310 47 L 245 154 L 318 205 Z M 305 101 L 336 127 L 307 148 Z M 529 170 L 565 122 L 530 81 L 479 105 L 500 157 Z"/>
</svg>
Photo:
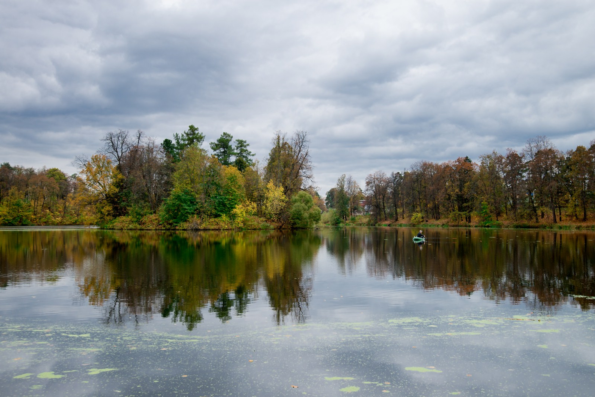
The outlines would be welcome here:
<svg viewBox="0 0 595 397">
<path fill-rule="evenodd" d="M 110 131 L 79 172 L 0 165 L 2 225 L 136 229 L 310 228 L 365 216 L 369 224 L 424 221 L 587 222 L 595 210 L 595 140 L 563 153 L 543 136 L 508 149 L 403 172 L 376 171 L 362 184 L 343 174 L 322 200 L 305 131 L 277 131 L 263 163 L 246 140 L 223 133 L 203 149 L 194 125 L 162 143 L 142 131 Z M 328 212 L 327 212 L 328 210 Z M 474 223 L 473 223 L 474 222 Z"/>
</svg>

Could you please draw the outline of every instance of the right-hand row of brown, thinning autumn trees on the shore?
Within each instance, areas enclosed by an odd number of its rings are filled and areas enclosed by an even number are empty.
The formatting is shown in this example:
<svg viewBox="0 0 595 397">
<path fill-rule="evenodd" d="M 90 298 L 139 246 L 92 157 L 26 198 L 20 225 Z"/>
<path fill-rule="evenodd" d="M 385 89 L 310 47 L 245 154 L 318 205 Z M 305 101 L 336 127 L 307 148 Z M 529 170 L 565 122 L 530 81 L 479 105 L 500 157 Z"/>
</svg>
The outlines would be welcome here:
<svg viewBox="0 0 595 397">
<path fill-rule="evenodd" d="M 324 221 L 336 224 L 362 213 L 371 223 L 586 222 L 595 210 L 595 140 L 563 153 L 537 136 L 520 151 L 494 150 L 479 163 L 422 160 L 403 172 L 369 174 L 363 189 L 344 174 L 325 203 L 331 211 Z"/>
</svg>

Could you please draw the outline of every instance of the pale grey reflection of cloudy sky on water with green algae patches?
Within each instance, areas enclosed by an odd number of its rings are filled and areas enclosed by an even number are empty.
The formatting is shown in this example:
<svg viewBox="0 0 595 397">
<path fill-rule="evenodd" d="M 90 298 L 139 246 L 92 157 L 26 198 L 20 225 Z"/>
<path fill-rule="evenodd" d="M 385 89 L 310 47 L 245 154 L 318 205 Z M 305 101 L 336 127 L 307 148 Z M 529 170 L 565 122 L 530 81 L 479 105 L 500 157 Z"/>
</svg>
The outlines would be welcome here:
<svg viewBox="0 0 595 397">
<path fill-rule="evenodd" d="M 299 273 L 311 279 L 301 324 L 292 316 L 275 323 L 274 286 L 261 281 L 245 313 L 231 310 L 222 322 L 205 305 L 202 322 L 188 331 L 158 307 L 102 324 L 110 301 L 89 305 L 71 266 L 51 270 L 51 282 L 39 272 L 26 276 L 0 289 L 0 384 L 7 395 L 48 396 L 332 396 L 357 387 L 353 395 L 592 394 L 593 310 L 564 301 L 533 310 L 543 306 L 531 292 L 511 304 L 488 300 L 481 289 L 420 288 L 394 276 L 391 263 L 371 269 L 370 250 L 340 262 L 345 253 L 327 243 Z M 421 252 L 433 252 L 427 248 Z M 48 371 L 63 377 L 37 378 Z"/>
</svg>

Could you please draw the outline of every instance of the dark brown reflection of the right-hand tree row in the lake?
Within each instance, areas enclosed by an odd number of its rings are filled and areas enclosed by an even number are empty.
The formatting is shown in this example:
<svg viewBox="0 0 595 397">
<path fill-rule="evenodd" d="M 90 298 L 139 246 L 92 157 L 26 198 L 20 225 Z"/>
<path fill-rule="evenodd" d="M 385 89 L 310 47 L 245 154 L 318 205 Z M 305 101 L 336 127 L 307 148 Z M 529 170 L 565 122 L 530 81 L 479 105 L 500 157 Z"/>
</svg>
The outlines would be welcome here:
<svg viewBox="0 0 595 397">
<path fill-rule="evenodd" d="M 372 232 L 367 245 L 368 275 L 405 277 L 419 288 L 442 288 L 460 295 L 483 290 L 494 301 L 524 301 L 550 310 L 570 301 L 584 310 L 595 301 L 595 248 L 590 232 L 427 231 L 422 250 L 411 229 Z M 435 240 L 432 240 L 432 239 Z M 400 239 L 400 241 L 399 241 Z"/>
</svg>

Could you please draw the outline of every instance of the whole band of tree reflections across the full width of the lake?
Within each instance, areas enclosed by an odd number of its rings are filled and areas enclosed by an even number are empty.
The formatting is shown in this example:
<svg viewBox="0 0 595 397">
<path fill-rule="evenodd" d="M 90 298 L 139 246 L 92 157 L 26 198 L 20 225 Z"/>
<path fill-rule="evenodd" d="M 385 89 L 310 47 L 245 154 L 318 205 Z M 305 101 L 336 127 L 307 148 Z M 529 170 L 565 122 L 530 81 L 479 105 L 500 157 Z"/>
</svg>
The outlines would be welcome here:
<svg viewBox="0 0 595 397">
<path fill-rule="evenodd" d="M 371 277 L 460 295 L 481 291 L 534 310 L 566 302 L 595 307 L 588 298 L 595 296 L 593 232 L 430 229 L 422 250 L 413 234 L 406 228 L 5 232 L 0 286 L 55 282 L 73 268 L 81 296 L 104 308 L 105 322 L 146 322 L 160 314 L 189 329 L 204 310 L 221 321 L 241 316 L 265 288 L 275 322 L 288 316 L 303 322 L 312 293 L 309 265 L 324 240 L 343 274 L 364 264 Z"/>
</svg>

